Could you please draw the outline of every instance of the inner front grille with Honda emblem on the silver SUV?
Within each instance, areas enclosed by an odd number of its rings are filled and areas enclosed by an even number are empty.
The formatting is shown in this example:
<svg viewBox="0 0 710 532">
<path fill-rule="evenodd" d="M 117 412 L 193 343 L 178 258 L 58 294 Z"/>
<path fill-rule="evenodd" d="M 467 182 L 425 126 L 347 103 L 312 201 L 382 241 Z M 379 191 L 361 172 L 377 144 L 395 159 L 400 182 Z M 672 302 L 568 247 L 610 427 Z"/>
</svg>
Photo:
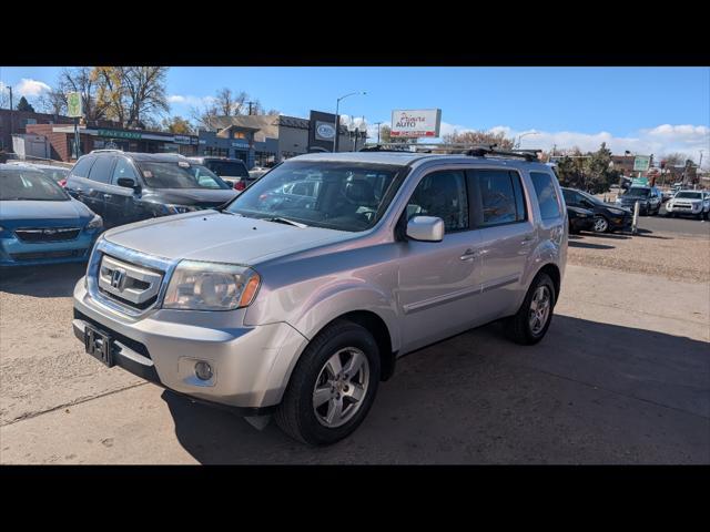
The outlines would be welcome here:
<svg viewBox="0 0 710 532">
<path fill-rule="evenodd" d="M 97 280 L 104 297 L 124 307 L 145 310 L 158 300 L 163 272 L 103 255 Z"/>
</svg>

